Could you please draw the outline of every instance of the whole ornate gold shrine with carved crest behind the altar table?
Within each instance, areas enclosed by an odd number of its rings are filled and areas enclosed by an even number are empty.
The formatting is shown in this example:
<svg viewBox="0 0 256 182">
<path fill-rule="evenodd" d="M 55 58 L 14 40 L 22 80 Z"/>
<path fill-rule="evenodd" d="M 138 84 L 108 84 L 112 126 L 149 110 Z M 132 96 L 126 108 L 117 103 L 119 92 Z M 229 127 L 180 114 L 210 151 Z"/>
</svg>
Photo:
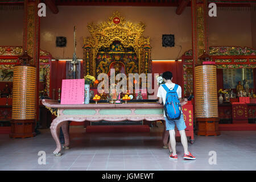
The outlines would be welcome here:
<svg viewBox="0 0 256 182">
<path fill-rule="evenodd" d="M 84 38 L 84 75 L 97 77 L 120 65 L 120 71 L 151 72 L 150 38 L 142 36 L 144 23 L 131 23 L 114 12 L 106 22 L 89 23 L 90 37 Z"/>
</svg>

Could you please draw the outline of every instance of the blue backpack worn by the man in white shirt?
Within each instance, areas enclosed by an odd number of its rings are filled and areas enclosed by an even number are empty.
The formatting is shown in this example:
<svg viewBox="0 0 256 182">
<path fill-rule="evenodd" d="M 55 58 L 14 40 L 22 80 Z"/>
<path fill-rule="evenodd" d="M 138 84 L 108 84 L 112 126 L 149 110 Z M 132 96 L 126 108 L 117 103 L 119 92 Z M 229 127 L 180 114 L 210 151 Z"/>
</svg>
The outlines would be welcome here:
<svg viewBox="0 0 256 182">
<path fill-rule="evenodd" d="M 164 112 L 169 120 L 179 119 L 181 115 L 180 100 L 177 95 L 177 88 L 179 85 L 175 84 L 174 89 L 170 90 L 165 84 L 162 85 L 166 90 L 166 104 L 164 104 Z"/>
</svg>

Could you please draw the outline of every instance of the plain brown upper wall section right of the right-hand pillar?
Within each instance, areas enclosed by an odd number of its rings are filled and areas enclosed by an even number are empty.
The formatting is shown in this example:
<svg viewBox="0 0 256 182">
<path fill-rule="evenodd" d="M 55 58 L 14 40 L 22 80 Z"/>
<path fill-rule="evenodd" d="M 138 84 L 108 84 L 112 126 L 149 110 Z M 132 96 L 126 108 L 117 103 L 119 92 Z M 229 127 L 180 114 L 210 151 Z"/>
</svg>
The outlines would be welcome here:
<svg viewBox="0 0 256 182">
<path fill-rule="evenodd" d="M 252 47 L 250 11 L 217 9 L 209 17 L 209 46 Z"/>
</svg>

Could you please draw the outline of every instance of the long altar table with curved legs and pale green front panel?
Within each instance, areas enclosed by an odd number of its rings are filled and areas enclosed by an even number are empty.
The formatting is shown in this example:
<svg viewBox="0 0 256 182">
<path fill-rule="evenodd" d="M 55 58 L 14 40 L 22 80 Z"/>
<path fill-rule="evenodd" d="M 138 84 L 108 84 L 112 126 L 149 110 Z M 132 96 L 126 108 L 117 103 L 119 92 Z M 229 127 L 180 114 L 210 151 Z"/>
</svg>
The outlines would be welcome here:
<svg viewBox="0 0 256 182">
<path fill-rule="evenodd" d="M 61 105 L 55 100 L 42 100 L 42 104 L 51 111 L 55 110 L 57 114 L 50 127 L 56 142 L 56 150 L 53 151 L 56 156 L 61 155 L 60 127 L 65 139 L 63 148 L 69 148 L 68 121 L 164 121 L 163 105 L 157 103 Z M 167 140 L 168 131 L 164 130 L 163 143 L 167 144 Z"/>
</svg>

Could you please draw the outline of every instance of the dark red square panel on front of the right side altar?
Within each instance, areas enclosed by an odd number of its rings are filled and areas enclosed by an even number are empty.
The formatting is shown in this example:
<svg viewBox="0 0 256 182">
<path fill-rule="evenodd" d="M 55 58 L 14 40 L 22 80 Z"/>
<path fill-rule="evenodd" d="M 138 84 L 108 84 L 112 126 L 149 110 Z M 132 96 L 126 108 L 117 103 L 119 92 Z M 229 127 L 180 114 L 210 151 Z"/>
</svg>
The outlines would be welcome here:
<svg viewBox="0 0 256 182">
<path fill-rule="evenodd" d="M 248 108 L 246 104 L 232 104 L 233 123 L 248 123 Z"/>
</svg>

